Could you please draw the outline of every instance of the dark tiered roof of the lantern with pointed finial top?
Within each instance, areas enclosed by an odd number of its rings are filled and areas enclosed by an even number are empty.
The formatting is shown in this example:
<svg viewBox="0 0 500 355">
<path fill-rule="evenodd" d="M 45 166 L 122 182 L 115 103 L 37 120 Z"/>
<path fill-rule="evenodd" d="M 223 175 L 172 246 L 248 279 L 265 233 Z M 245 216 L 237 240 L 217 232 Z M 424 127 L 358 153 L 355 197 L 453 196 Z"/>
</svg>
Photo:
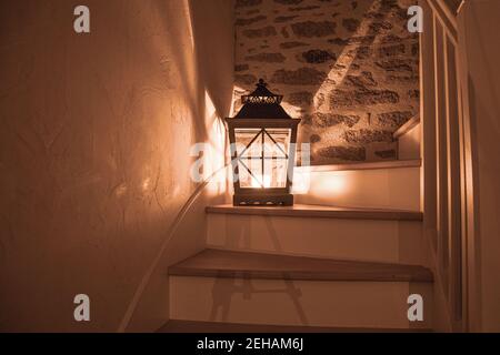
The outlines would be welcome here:
<svg viewBox="0 0 500 355">
<path fill-rule="evenodd" d="M 291 119 L 281 106 L 282 100 L 283 95 L 269 91 L 268 84 L 260 79 L 251 94 L 241 97 L 243 106 L 234 119 Z"/>
</svg>

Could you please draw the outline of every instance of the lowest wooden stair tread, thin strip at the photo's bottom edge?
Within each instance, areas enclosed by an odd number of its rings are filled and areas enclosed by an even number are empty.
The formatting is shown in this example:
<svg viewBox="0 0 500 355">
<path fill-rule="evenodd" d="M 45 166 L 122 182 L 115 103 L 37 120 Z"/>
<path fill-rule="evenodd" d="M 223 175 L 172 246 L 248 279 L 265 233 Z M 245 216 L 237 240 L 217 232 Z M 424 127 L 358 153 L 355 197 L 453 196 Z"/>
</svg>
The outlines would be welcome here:
<svg viewBox="0 0 500 355">
<path fill-rule="evenodd" d="M 157 333 L 409 333 L 422 328 L 320 327 L 170 320 Z"/>
</svg>

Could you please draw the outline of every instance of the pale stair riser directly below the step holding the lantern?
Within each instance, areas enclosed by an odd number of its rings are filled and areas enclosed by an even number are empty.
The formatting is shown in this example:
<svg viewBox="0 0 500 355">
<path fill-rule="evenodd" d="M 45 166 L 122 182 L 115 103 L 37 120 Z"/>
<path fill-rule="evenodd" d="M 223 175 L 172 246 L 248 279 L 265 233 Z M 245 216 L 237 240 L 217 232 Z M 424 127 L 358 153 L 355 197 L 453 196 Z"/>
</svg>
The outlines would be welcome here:
<svg viewBox="0 0 500 355">
<path fill-rule="evenodd" d="M 209 247 L 426 265 L 421 222 L 208 215 Z"/>
</svg>

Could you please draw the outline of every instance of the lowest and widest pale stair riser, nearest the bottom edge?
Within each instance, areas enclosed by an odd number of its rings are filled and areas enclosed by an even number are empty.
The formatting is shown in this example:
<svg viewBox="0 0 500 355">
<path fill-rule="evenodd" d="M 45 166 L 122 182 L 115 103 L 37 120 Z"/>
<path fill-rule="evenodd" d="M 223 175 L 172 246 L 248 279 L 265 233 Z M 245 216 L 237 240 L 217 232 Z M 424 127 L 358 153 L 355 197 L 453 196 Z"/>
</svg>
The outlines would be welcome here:
<svg viewBox="0 0 500 355">
<path fill-rule="evenodd" d="M 404 282 L 314 282 L 170 277 L 170 317 L 200 322 L 339 327 L 426 328 L 432 286 Z M 409 322 L 410 294 L 424 300 Z"/>
</svg>

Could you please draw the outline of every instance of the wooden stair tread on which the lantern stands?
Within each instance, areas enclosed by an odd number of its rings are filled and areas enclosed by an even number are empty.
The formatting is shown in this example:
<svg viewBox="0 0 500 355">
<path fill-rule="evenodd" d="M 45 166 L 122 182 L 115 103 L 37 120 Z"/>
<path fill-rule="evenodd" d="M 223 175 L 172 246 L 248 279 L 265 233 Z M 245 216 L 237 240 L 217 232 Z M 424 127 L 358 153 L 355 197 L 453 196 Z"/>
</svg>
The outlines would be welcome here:
<svg viewBox="0 0 500 355">
<path fill-rule="evenodd" d="M 356 220 L 391 220 L 422 221 L 423 213 L 419 211 L 390 209 L 354 209 L 294 204 L 293 206 L 233 206 L 232 204 L 208 206 L 207 213 L 276 215 L 296 217 L 331 217 Z"/>
</svg>

